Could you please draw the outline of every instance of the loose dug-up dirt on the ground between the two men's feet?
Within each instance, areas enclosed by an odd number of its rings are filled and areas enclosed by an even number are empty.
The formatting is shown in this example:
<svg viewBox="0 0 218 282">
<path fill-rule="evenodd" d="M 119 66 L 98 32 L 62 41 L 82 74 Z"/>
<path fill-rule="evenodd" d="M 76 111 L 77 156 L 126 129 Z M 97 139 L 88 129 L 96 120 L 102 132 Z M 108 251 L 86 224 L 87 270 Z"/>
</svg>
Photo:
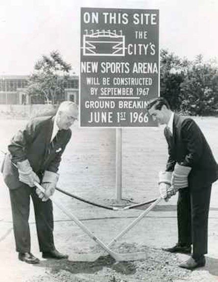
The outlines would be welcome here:
<svg viewBox="0 0 218 282">
<path fill-rule="evenodd" d="M 98 247 L 92 249 L 99 251 Z M 45 260 L 35 267 L 48 269 L 49 282 L 95 281 L 95 282 L 170 282 L 186 279 L 191 271 L 178 268 L 179 260 L 175 254 L 160 249 L 136 244 L 122 243 L 116 248 L 118 253 L 145 252 L 146 260 L 117 262 L 110 256 L 100 256 L 93 262 L 69 260 Z M 44 278 L 31 279 L 31 282 L 46 281 Z M 28 281 L 30 282 L 30 280 Z"/>
</svg>

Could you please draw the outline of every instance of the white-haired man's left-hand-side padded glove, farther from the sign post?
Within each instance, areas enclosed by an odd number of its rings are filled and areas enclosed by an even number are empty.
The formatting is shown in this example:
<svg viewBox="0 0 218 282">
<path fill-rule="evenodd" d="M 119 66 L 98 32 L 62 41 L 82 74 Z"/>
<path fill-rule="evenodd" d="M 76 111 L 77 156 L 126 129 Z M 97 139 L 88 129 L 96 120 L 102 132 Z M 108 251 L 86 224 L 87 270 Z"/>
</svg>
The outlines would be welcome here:
<svg viewBox="0 0 218 282">
<path fill-rule="evenodd" d="M 34 187 L 34 182 L 40 182 L 39 177 L 31 168 L 29 161 L 26 159 L 22 162 L 17 162 L 19 180 L 30 187 Z"/>
</svg>

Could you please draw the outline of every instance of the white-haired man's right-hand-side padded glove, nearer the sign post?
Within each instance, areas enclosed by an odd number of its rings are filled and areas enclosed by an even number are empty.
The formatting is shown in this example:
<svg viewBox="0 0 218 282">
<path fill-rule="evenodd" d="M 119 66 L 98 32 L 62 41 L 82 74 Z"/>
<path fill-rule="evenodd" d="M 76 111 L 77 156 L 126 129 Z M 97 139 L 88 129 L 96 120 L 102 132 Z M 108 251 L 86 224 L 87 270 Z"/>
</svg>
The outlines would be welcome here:
<svg viewBox="0 0 218 282">
<path fill-rule="evenodd" d="M 47 201 L 48 198 L 54 194 L 58 178 L 59 174 L 45 171 L 41 183 L 41 186 L 45 189 L 45 191 L 42 192 L 38 187 L 36 188 L 36 194 L 43 202 Z"/>
</svg>

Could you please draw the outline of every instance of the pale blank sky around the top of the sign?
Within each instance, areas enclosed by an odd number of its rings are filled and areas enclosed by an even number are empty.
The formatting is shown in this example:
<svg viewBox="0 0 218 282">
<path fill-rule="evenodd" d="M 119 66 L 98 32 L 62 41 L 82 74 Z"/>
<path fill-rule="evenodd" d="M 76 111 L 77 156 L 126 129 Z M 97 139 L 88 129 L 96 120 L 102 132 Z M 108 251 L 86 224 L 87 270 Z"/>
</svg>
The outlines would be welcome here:
<svg viewBox="0 0 218 282">
<path fill-rule="evenodd" d="M 218 0 L 0 0 L 0 75 L 28 75 L 52 50 L 79 73 L 80 7 L 160 10 L 160 48 L 218 59 Z"/>
</svg>

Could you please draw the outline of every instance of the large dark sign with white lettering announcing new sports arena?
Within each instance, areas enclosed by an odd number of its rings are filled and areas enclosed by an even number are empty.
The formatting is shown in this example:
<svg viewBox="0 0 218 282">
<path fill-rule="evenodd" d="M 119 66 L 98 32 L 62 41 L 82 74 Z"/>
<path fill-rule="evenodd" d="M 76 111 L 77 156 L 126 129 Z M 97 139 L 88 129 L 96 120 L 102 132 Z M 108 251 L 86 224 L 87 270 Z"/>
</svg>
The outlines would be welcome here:
<svg viewBox="0 0 218 282">
<path fill-rule="evenodd" d="M 147 101 L 159 96 L 159 11 L 81 8 L 80 126 L 156 125 Z"/>
</svg>

